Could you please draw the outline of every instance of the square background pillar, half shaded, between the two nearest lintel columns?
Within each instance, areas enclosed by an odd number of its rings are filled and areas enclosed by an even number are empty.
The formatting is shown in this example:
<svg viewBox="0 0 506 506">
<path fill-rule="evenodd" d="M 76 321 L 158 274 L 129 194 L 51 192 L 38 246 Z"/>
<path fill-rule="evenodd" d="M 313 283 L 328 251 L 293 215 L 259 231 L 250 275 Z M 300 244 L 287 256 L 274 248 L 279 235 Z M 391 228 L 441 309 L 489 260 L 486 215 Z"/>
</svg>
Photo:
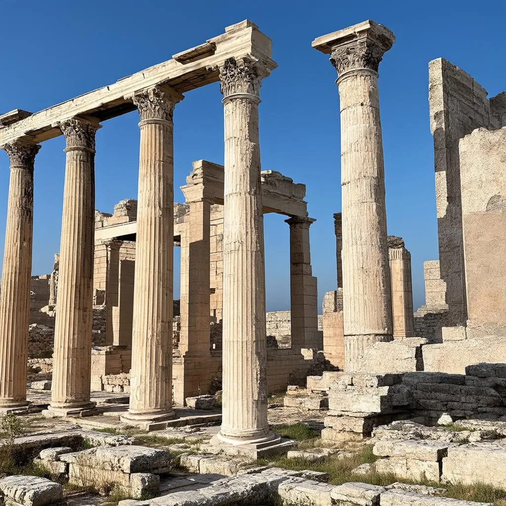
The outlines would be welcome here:
<svg viewBox="0 0 506 506">
<path fill-rule="evenodd" d="M 179 349 L 186 357 L 209 356 L 210 325 L 210 209 L 212 200 L 190 201 L 187 236 L 181 244 L 186 256 L 187 311 L 181 311 Z M 183 241 L 183 237 L 181 238 Z"/>
</svg>

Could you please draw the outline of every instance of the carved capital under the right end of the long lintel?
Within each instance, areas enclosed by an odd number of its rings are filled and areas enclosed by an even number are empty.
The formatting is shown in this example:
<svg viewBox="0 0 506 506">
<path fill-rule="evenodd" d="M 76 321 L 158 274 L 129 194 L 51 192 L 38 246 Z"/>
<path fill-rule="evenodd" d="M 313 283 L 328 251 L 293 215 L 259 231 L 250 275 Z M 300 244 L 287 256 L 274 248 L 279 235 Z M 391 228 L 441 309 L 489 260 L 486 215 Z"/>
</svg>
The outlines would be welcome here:
<svg viewBox="0 0 506 506">
<path fill-rule="evenodd" d="M 245 93 L 258 96 L 262 85 L 262 66 L 252 58 L 227 58 L 218 67 L 220 72 L 221 92 L 226 98 L 229 95 Z"/>
</svg>

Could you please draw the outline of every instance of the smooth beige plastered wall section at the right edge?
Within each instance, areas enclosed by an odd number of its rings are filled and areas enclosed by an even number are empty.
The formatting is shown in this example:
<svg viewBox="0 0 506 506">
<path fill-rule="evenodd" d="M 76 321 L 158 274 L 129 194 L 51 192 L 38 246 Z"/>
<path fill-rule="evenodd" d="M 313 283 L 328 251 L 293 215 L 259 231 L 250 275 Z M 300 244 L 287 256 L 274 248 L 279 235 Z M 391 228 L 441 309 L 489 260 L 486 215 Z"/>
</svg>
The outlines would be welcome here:
<svg viewBox="0 0 506 506">
<path fill-rule="evenodd" d="M 506 128 L 460 140 L 467 338 L 506 339 Z"/>
</svg>

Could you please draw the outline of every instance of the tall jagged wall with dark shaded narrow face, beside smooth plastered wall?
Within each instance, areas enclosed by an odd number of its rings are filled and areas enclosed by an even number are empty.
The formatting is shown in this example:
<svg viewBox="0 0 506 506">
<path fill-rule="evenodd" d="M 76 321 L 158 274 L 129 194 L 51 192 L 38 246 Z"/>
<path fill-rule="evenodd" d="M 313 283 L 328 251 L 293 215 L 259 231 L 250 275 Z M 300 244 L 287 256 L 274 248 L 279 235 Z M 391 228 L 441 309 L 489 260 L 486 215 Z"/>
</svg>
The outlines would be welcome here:
<svg viewBox="0 0 506 506">
<path fill-rule="evenodd" d="M 487 100 L 477 81 L 443 58 L 429 63 L 439 261 L 452 325 L 467 319 L 458 140 L 480 127 L 502 126 L 503 98 L 501 94 Z"/>
</svg>

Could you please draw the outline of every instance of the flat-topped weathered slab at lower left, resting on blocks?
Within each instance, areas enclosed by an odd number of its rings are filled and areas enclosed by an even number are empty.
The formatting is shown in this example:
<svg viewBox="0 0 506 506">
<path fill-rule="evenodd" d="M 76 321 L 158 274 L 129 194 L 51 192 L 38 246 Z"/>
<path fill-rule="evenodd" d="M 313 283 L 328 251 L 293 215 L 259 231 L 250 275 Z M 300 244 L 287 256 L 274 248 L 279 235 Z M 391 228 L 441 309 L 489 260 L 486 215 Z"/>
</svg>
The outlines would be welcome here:
<svg viewBox="0 0 506 506">
<path fill-rule="evenodd" d="M 158 472 L 171 465 L 169 451 L 147 446 L 98 447 L 60 455 L 60 460 L 95 470 L 122 473 Z"/>
</svg>

